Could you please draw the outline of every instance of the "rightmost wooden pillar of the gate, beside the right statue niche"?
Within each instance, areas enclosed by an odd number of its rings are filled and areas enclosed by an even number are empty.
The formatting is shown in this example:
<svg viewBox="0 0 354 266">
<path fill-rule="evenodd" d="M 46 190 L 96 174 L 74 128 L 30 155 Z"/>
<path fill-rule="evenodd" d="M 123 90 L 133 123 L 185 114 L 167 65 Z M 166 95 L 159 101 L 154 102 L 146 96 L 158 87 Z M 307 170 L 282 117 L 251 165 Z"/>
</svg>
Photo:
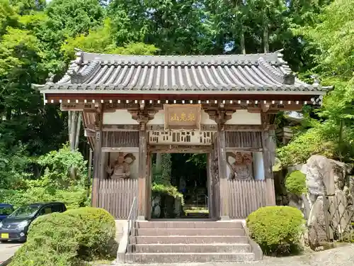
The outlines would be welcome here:
<svg viewBox="0 0 354 266">
<path fill-rule="evenodd" d="M 275 160 L 275 130 L 270 125 L 270 114 L 262 113 L 262 145 L 263 165 L 265 177 L 265 204 L 275 206 L 275 187 L 273 178 L 273 164 Z"/>
</svg>

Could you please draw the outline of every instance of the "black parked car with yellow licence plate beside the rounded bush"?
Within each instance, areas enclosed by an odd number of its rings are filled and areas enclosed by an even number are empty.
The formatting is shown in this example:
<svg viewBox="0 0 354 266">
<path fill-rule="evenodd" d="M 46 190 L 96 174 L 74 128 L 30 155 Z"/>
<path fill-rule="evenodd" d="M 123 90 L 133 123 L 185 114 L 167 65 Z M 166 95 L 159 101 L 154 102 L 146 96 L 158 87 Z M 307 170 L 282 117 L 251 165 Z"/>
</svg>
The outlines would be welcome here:
<svg viewBox="0 0 354 266">
<path fill-rule="evenodd" d="M 4 243 L 8 240 L 24 242 L 27 239 L 28 227 L 35 218 L 66 210 L 67 207 L 61 202 L 36 203 L 21 206 L 0 222 L 0 242 Z"/>
</svg>

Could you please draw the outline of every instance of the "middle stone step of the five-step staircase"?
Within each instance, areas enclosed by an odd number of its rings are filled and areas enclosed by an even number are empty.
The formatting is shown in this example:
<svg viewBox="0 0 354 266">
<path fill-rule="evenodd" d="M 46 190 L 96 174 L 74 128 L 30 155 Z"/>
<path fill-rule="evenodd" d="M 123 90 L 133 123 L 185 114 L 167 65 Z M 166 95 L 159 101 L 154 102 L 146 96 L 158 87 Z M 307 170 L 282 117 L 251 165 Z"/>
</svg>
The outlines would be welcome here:
<svg viewBox="0 0 354 266">
<path fill-rule="evenodd" d="M 235 235 L 176 235 L 176 236 L 130 236 L 130 244 L 248 244 L 246 236 Z"/>
</svg>

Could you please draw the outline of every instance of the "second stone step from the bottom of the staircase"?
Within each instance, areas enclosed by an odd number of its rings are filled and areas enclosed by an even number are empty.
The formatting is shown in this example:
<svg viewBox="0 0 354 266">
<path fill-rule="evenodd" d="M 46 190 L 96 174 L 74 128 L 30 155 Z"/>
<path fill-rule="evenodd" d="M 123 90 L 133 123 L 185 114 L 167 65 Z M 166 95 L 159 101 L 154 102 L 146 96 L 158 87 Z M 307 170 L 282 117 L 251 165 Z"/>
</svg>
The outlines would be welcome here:
<svg viewBox="0 0 354 266">
<path fill-rule="evenodd" d="M 251 253 L 249 244 L 151 244 L 130 245 L 135 253 Z"/>
</svg>

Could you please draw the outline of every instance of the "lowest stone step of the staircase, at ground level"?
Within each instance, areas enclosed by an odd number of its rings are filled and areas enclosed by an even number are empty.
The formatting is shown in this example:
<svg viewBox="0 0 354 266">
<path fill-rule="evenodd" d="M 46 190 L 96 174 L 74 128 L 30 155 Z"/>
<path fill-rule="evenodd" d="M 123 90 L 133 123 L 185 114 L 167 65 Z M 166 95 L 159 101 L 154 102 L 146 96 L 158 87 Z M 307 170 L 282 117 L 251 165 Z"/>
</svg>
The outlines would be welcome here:
<svg viewBox="0 0 354 266">
<path fill-rule="evenodd" d="M 245 262 L 255 260 L 253 253 L 127 253 L 130 263 Z"/>
</svg>

